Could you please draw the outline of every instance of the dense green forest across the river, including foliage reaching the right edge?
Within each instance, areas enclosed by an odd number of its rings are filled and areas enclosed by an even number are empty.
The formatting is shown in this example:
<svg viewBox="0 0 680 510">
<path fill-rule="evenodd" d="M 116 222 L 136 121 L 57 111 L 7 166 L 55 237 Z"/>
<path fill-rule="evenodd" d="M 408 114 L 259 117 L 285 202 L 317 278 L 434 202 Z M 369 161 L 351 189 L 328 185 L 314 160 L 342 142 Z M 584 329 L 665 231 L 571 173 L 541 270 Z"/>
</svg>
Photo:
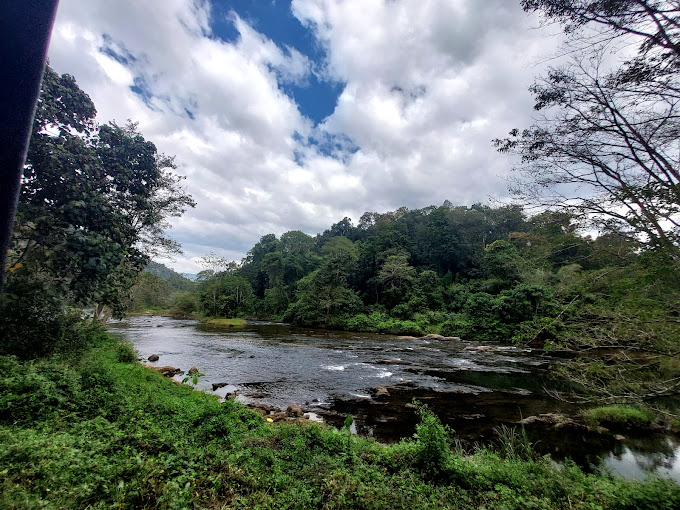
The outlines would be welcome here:
<svg viewBox="0 0 680 510">
<path fill-rule="evenodd" d="M 565 213 L 449 203 L 365 213 L 315 237 L 263 236 L 239 264 L 204 262 L 193 284 L 149 267 L 133 309 L 588 351 L 596 377 L 573 367 L 570 378 L 605 401 L 675 393 L 676 264 L 616 231 L 583 235 Z M 606 360 L 593 349 L 609 349 Z M 607 370 L 631 350 L 634 361 Z"/>
</svg>

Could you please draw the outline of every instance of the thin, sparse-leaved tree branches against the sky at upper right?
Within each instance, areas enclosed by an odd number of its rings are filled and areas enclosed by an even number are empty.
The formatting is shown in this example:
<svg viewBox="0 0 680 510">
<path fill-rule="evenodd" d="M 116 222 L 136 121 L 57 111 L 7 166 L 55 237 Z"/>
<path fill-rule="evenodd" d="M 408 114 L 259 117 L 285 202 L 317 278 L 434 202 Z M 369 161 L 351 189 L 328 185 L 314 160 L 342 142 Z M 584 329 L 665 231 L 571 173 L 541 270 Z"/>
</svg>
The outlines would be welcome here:
<svg viewBox="0 0 680 510">
<path fill-rule="evenodd" d="M 495 140 L 521 157 L 513 191 L 680 260 L 680 4 L 522 4 L 563 24 L 571 60 L 532 86 L 536 124 Z"/>
</svg>

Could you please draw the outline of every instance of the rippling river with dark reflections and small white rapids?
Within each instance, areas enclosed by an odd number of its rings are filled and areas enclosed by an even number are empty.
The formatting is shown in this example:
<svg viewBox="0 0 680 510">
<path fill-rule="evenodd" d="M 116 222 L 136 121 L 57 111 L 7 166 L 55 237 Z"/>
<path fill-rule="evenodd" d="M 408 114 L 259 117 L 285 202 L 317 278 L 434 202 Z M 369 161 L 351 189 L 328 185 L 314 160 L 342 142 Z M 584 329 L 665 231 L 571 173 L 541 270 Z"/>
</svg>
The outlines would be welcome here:
<svg viewBox="0 0 680 510">
<path fill-rule="evenodd" d="M 131 342 L 152 365 L 184 371 L 199 367 L 197 387 L 246 404 L 305 412 L 341 426 L 346 414 L 357 433 L 393 442 L 409 437 L 427 404 L 469 444 L 493 442 L 494 428 L 541 413 L 578 408 L 548 396 L 550 366 L 559 358 L 541 350 L 493 342 L 426 340 L 347 333 L 267 322 L 231 329 L 158 316 L 114 322 L 110 331 Z M 181 379 L 180 377 L 176 377 Z M 227 383 L 212 391 L 212 383 Z M 680 444 L 673 438 L 627 437 L 527 428 L 539 453 L 568 456 L 586 468 L 626 477 L 647 472 L 680 482 Z"/>
</svg>

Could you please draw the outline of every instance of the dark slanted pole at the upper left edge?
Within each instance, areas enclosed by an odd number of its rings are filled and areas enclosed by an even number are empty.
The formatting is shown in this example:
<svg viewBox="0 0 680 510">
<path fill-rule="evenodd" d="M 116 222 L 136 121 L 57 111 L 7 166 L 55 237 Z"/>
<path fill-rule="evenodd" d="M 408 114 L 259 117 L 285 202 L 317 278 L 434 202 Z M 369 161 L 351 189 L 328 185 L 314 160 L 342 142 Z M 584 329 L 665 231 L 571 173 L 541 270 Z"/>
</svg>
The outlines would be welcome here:
<svg viewBox="0 0 680 510">
<path fill-rule="evenodd" d="M 0 0 L 0 293 L 58 0 Z"/>
</svg>

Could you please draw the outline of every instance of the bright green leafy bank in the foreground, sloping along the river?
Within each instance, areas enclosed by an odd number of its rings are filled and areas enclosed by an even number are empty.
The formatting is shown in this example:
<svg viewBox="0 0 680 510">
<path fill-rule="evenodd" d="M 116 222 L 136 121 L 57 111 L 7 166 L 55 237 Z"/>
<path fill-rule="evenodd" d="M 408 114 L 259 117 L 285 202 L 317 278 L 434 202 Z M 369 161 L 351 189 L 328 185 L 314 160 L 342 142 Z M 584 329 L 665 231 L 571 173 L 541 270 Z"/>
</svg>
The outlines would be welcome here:
<svg viewBox="0 0 680 510">
<path fill-rule="evenodd" d="M 0 357 L 1 508 L 680 507 L 672 482 L 457 456 L 427 413 L 418 438 L 395 446 L 269 426 L 133 358 L 105 339 L 70 358 Z"/>
</svg>

